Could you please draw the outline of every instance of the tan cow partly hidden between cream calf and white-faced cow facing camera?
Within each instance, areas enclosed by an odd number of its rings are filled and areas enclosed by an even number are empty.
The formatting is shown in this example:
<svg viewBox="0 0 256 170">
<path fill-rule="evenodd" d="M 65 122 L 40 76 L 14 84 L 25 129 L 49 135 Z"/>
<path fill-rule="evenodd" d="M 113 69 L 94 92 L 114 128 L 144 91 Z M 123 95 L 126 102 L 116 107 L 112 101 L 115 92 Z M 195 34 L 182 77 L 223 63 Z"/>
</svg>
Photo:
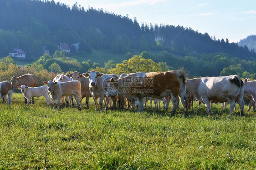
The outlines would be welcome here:
<svg viewBox="0 0 256 170">
<path fill-rule="evenodd" d="M 82 99 L 85 98 L 85 102 L 87 105 L 87 109 L 89 109 L 89 99 L 91 96 L 91 92 L 89 90 L 90 80 L 79 73 L 77 71 L 72 72 L 71 74 L 67 74 L 68 77 L 72 78 L 72 80 L 78 80 L 81 83 L 81 95 Z"/>
</svg>

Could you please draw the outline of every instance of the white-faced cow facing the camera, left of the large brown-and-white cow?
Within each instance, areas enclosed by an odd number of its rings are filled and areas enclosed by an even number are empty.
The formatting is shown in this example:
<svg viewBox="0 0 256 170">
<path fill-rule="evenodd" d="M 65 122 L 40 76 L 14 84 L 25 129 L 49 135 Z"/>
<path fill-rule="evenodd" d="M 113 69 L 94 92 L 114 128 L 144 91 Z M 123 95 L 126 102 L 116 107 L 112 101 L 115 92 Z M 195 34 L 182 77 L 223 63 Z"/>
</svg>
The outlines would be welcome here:
<svg viewBox="0 0 256 170">
<path fill-rule="evenodd" d="M 98 111 L 98 103 L 97 99 L 99 98 L 99 104 L 100 104 L 100 110 L 102 110 L 102 103 L 104 100 L 104 97 L 106 96 L 107 91 L 107 82 L 106 80 L 109 80 L 111 78 L 118 79 L 118 75 L 112 74 L 112 75 L 106 75 L 97 71 L 87 71 L 86 73 L 82 74 L 84 77 L 89 78 L 89 90 L 91 92 L 92 98 L 94 100 L 95 104 L 95 110 Z M 107 104 L 106 104 L 106 110 L 108 110 L 108 103 L 109 99 L 107 98 Z M 115 97 L 112 98 L 113 100 L 113 107 L 115 108 L 116 99 Z"/>
</svg>

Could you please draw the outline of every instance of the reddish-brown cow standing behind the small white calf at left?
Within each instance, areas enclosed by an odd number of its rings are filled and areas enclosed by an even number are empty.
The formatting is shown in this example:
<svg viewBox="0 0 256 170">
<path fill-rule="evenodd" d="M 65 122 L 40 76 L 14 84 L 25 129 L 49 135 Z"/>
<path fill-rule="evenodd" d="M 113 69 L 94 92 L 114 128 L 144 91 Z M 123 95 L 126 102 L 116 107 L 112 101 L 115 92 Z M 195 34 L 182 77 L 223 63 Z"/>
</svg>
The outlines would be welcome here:
<svg viewBox="0 0 256 170">
<path fill-rule="evenodd" d="M 35 75 L 32 74 L 26 74 L 21 75 L 20 77 L 11 77 L 11 85 L 12 89 L 19 85 L 26 85 L 28 87 L 37 87 L 38 86 L 38 80 L 36 79 Z M 25 99 L 25 104 L 27 104 L 27 100 Z M 34 97 L 32 97 L 32 104 L 35 104 Z"/>
</svg>

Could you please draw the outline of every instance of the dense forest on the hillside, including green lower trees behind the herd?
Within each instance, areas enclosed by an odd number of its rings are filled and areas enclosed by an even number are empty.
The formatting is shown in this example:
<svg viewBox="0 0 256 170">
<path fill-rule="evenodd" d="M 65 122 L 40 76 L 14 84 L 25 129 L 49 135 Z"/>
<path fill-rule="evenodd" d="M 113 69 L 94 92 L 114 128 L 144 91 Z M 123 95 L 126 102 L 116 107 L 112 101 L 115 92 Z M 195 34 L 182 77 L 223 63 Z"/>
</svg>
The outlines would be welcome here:
<svg viewBox="0 0 256 170">
<path fill-rule="evenodd" d="M 58 43 L 80 43 L 78 53 L 56 52 Z M 47 46 L 50 55 L 42 54 Z M 102 9 L 85 9 L 75 3 L 71 7 L 53 0 L 0 0 L 0 57 L 13 48 L 26 52 L 28 66 L 43 67 L 55 72 L 111 68 L 83 60 L 76 55 L 90 55 L 97 50 L 108 51 L 129 60 L 133 55 L 164 63 L 169 69 L 185 70 L 189 77 L 239 74 L 256 78 L 256 52 L 246 45 L 216 40 L 208 33 L 174 25 L 139 24 Z M 109 59 L 109 58 L 108 58 Z M 110 58 L 111 59 L 111 58 Z"/>
</svg>

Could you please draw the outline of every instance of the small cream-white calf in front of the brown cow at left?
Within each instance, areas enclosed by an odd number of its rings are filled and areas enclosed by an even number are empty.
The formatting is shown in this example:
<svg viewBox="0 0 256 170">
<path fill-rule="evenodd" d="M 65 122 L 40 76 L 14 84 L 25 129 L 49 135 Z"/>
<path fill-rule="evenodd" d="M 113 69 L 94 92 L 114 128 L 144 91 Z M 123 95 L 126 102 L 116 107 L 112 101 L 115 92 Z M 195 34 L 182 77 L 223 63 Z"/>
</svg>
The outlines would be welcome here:
<svg viewBox="0 0 256 170">
<path fill-rule="evenodd" d="M 28 87 L 26 85 L 19 85 L 18 89 L 22 92 L 23 96 L 27 99 L 27 106 L 30 104 L 31 97 L 44 96 L 47 101 L 47 106 L 50 105 L 50 98 L 48 96 L 47 86 Z"/>
</svg>

